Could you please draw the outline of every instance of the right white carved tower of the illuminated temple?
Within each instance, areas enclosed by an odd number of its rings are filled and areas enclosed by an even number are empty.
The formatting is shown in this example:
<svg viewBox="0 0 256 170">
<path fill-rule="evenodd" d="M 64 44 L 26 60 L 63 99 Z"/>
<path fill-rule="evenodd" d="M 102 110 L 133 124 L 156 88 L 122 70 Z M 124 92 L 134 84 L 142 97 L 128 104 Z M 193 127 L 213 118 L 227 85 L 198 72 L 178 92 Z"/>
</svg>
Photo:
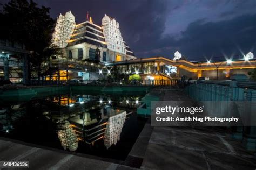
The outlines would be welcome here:
<svg viewBox="0 0 256 170">
<path fill-rule="evenodd" d="M 116 19 L 105 15 L 102 18 L 102 29 L 107 48 L 118 53 L 126 54 L 123 37 Z"/>
</svg>

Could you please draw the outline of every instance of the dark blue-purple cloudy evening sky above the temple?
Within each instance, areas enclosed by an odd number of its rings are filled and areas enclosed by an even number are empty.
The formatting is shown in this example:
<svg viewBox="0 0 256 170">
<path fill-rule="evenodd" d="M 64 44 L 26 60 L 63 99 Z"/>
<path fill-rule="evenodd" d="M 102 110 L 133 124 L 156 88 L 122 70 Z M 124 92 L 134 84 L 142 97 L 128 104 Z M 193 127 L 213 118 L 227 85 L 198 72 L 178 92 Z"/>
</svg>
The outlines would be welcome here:
<svg viewBox="0 0 256 170">
<path fill-rule="evenodd" d="M 1 0 L 4 1 L 4 0 Z M 7 1 L 7 0 L 6 0 Z M 71 10 L 76 23 L 89 11 L 95 24 L 116 18 L 124 40 L 138 58 L 179 51 L 189 60 L 256 55 L 256 1 L 35 0 L 51 16 Z"/>
</svg>

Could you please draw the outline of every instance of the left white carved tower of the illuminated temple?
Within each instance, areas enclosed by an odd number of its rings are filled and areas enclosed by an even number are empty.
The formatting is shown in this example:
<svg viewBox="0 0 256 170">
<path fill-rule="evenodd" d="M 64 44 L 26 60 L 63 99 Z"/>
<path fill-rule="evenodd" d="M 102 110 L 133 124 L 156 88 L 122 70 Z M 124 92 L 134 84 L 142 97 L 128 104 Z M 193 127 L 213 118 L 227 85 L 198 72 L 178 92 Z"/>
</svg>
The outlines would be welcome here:
<svg viewBox="0 0 256 170">
<path fill-rule="evenodd" d="M 59 48 L 65 48 L 69 43 L 75 26 L 75 16 L 73 16 L 71 11 L 66 12 L 65 16 L 60 13 L 57 18 L 55 31 L 52 34 L 52 45 Z"/>
</svg>

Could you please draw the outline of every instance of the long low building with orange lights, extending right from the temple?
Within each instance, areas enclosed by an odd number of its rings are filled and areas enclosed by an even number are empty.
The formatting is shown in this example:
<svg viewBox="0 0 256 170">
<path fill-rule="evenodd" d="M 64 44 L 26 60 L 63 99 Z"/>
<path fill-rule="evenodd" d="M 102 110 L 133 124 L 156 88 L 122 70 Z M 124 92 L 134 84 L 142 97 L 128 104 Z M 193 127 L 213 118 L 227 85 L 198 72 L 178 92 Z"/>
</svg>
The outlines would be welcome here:
<svg viewBox="0 0 256 170">
<path fill-rule="evenodd" d="M 176 52 L 175 54 L 180 53 Z M 142 79 L 149 80 L 179 79 L 183 75 L 187 79 L 208 77 L 211 80 L 224 80 L 229 79 L 233 74 L 245 74 L 248 76 L 248 72 L 256 67 L 256 60 L 252 58 L 253 53 L 248 53 L 250 54 L 250 59 L 218 61 L 187 61 L 187 58 L 184 58 L 181 54 L 175 54 L 175 60 L 164 57 L 152 57 L 109 62 L 105 65 L 114 67 L 119 74 L 139 74 Z"/>
</svg>

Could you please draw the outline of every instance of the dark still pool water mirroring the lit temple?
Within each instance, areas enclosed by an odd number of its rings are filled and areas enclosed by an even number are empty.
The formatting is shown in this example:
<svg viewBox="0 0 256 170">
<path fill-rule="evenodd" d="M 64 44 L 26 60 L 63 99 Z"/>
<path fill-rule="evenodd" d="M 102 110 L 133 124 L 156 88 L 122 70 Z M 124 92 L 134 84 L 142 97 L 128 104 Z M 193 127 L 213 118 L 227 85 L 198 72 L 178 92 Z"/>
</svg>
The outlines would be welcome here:
<svg viewBox="0 0 256 170">
<path fill-rule="evenodd" d="M 145 94 L 69 93 L 0 103 L 0 136 L 125 160 L 145 118 L 136 114 Z"/>
</svg>

